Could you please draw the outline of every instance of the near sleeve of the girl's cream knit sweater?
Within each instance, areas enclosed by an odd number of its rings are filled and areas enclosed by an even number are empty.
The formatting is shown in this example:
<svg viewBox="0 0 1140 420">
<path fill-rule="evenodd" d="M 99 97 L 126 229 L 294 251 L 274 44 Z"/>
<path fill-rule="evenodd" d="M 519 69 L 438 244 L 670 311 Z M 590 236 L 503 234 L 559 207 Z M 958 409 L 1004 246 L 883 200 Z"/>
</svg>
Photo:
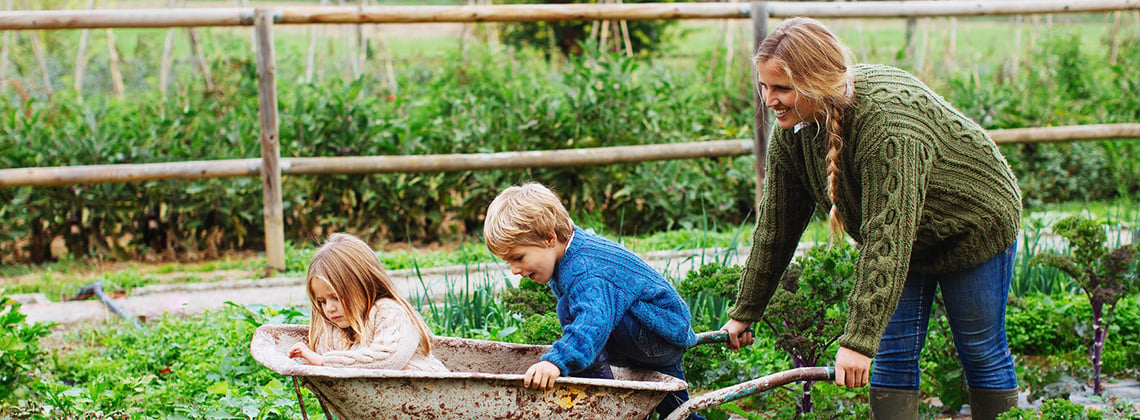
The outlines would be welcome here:
<svg viewBox="0 0 1140 420">
<path fill-rule="evenodd" d="M 368 314 L 369 326 L 360 345 L 350 350 L 325 353 L 325 365 L 401 370 L 420 346 L 420 330 L 396 300 L 380 299 Z"/>
</svg>

